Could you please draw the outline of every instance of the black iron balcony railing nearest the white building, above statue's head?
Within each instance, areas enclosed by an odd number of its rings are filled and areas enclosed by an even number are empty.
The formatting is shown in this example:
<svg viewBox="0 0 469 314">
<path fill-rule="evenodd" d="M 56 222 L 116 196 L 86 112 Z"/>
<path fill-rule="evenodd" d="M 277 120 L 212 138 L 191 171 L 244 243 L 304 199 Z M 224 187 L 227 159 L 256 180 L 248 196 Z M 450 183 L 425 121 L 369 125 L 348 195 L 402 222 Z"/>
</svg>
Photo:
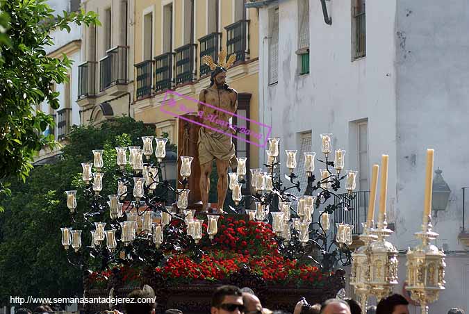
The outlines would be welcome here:
<svg viewBox="0 0 469 314">
<path fill-rule="evenodd" d="M 236 53 L 236 62 L 247 59 L 249 53 L 247 49 L 249 40 L 248 26 L 249 20 L 242 19 L 225 27 L 227 30 L 227 56 Z"/>
</svg>

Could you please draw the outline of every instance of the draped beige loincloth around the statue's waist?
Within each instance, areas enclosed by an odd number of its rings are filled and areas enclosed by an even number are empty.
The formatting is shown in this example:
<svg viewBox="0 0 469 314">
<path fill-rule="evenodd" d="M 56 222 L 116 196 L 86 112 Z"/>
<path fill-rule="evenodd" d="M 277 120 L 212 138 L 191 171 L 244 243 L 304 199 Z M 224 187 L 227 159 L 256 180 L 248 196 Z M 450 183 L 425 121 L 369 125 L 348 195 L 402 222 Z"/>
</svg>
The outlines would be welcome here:
<svg viewBox="0 0 469 314">
<path fill-rule="evenodd" d="M 199 149 L 199 163 L 209 163 L 213 159 L 231 160 L 234 159 L 236 167 L 235 146 L 231 141 L 231 136 L 224 135 L 215 131 L 207 131 L 204 127 L 199 129 L 199 140 L 197 140 Z M 233 167 L 233 165 L 231 165 Z"/>
</svg>

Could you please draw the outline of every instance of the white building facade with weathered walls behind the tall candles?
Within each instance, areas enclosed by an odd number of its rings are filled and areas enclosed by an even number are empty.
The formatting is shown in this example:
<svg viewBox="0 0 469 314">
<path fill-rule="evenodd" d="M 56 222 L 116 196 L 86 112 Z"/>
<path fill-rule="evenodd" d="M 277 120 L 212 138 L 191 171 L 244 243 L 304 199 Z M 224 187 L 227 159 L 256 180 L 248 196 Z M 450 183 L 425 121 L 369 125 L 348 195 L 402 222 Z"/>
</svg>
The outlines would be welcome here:
<svg viewBox="0 0 469 314">
<path fill-rule="evenodd" d="M 360 172 L 357 190 L 369 190 L 371 165 L 389 155 L 387 213 L 395 230 L 391 241 L 401 255 L 398 293 L 406 276 L 405 251 L 418 243 L 413 233 L 422 223 L 426 149 L 434 148 L 434 168 L 443 171 L 452 192 L 433 218 L 440 233 L 436 245 L 447 254 L 447 284 L 430 313 L 456 306 L 468 311 L 461 192 L 469 185 L 469 148 L 463 144 L 468 4 L 326 0 L 331 21 L 322 4 L 248 3 L 259 10 L 260 122 L 272 126 L 282 149 L 298 149 L 299 165 L 304 151 L 320 152 L 320 133 L 333 133 L 333 149 L 345 149 L 347 169 Z M 259 158 L 265 163 L 263 151 Z M 418 306 L 410 308 L 420 313 Z"/>
</svg>

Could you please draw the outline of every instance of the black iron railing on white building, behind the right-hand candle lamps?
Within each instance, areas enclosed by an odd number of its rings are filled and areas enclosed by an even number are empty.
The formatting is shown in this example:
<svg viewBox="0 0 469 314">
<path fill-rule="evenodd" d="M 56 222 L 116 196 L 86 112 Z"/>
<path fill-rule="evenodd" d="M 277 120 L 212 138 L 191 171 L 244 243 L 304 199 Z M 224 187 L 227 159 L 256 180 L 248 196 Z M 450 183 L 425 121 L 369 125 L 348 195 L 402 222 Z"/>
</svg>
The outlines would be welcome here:
<svg viewBox="0 0 469 314">
<path fill-rule="evenodd" d="M 346 194 L 342 194 L 339 196 L 343 197 L 345 195 Z M 361 223 L 366 222 L 369 195 L 369 191 L 352 192 L 349 210 L 336 210 L 334 212 L 334 224 L 331 224 L 331 228 L 334 229 L 334 234 L 336 233 L 335 224 L 340 222 L 354 226 L 354 229 L 352 230 L 353 234 L 362 233 L 363 229 Z M 339 201 L 340 199 L 338 197 L 334 198 L 334 204 L 338 204 Z"/>
</svg>

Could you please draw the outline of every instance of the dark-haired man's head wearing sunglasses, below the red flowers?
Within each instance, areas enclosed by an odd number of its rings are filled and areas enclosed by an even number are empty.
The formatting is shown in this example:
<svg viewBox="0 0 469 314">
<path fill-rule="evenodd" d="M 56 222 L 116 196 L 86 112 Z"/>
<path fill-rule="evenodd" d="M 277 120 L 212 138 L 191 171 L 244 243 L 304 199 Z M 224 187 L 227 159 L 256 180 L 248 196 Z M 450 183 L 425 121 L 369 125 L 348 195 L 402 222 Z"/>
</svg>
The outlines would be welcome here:
<svg viewBox="0 0 469 314">
<path fill-rule="evenodd" d="M 211 314 L 242 314 L 245 306 L 242 303 L 242 292 L 236 286 L 221 286 L 212 296 Z"/>
</svg>

